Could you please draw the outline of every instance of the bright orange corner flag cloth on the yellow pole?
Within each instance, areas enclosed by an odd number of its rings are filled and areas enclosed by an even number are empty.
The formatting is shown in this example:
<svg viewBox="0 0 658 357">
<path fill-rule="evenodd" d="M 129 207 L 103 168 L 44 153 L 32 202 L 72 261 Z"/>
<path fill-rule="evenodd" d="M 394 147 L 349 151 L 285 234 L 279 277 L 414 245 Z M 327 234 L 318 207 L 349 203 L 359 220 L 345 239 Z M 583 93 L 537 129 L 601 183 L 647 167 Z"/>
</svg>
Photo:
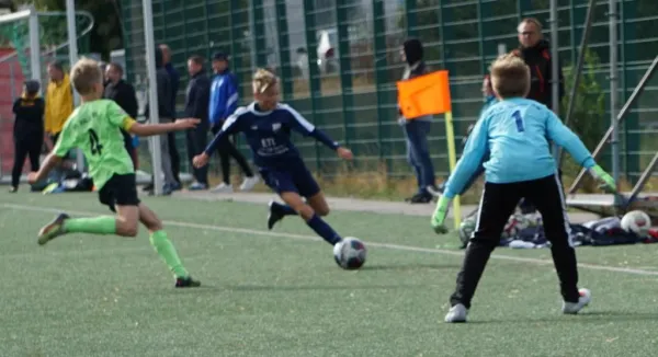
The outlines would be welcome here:
<svg viewBox="0 0 658 357">
<path fill-rule="evenodd" d="M 408 118 L 452 112 L 447 71 L 397 82 L 398 104 Z"/>
</svg>

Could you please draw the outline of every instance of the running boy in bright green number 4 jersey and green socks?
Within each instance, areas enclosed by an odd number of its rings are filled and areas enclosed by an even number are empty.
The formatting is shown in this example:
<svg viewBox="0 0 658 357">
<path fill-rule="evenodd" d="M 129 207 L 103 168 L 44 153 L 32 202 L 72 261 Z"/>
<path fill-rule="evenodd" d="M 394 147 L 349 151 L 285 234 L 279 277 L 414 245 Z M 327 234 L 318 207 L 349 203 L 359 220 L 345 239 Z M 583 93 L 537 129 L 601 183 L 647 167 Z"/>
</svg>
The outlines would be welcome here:
<svg viewBox="0 0 658 357">
<path fill-rule="evenodd" d="M 175 249 L 162 229 L 162 222 L 137 197 L 135 171 L 131 156 L 124 147 L 121 129 L 140 137 L 193 128 L 198 119 L 180 119 L 174 123 L 143 125 L 131 118 L 116 103 L 102 100 L 103 73 L 98 62 L 83 58 L 71 69 L 73 88 L 81 96 L 80 106 L 66 122 L 57 146 L 46 158 L 38 172 L 29 175 L 37 182 L 55 168 L 72 148 L 80 148 L 89 164 L 89 174 L 99 192 L 99 200 L 116 216 L 70 218 L 60 214 L 38 232 L 38 244 L 67 233 L 116 234 L 135 237 L 141 222 L 150 233 L 156 252 L 175 276 L 175 287 L 197 287 L 183 267 Z"/>
</svg>

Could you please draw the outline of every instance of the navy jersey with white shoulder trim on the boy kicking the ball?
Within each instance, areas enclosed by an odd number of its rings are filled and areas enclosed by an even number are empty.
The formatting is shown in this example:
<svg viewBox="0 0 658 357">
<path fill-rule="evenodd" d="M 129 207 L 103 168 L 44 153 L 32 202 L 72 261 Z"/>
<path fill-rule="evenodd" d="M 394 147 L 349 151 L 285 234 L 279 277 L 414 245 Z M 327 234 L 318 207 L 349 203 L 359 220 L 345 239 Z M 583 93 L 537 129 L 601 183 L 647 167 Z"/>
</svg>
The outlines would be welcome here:
<svg viewBox="0 0 658 357">
<path fill-rule="evenodd" d="M 270 112 L 260 112 L 257 104 L 241 106 L 230 115 L 222 130 L 208 145 L 205 153 L 211 156 L 222 140 L 229 135 L 243 133 L 253 153 L 253 162 L 259 168 L 283 168 L 297 164 L 302 157 L 291 141 L 295 130 L 311 136 L 327 147 L 336 150 L 338 143 L 306 120 L 302 114 L 286 104 L 279 104 Z"/>
</svg>

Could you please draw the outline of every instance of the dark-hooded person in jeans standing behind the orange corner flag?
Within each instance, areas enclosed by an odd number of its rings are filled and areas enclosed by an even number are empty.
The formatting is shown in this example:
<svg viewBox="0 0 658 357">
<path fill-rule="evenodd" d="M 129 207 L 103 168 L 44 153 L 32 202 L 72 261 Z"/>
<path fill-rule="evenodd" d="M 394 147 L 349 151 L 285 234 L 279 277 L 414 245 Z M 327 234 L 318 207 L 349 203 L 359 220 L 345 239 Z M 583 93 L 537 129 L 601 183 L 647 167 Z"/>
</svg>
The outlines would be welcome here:
<svg viewBox="0 0 658 357">
<path fill-rule="evenodd" d="M 427 73 L 426 64 L 422 60 L 423 47 L 422 43 L 416 38 L 405 41 L 400 51 L 402 60 L 407 62 L 402 80 L 412 79 Z M 411 204 L 427 204 L 432 201 L 435 188 L 434 165 L 430 157 L 430 148 L 428 143 L 428 135 L 432 116 L 423 116 L 418 118 L 405 118 L 399 112 L 398 123 L 405 129 L 407 138 L 407 160 L 413 168 L 416 180 L 418 182 L 418 191 L 407 201 Z"/>
</svg>

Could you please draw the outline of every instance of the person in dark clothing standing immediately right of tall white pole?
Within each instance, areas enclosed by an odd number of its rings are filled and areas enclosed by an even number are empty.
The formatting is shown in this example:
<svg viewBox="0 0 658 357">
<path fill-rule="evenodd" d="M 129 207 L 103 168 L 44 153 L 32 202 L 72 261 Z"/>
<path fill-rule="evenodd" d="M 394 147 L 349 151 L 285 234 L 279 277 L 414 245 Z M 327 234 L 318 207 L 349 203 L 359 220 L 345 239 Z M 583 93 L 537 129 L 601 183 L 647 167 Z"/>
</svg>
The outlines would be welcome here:
<svg viewBox="0 0 658 357">
<path fill-rule="evenodd" d="M 162 51 L 160 48 L 156 48 L 156 85 L 158 89 L 158 116 L 160 118 L 160 123 L 171 123 L 173 122 L 174 113 L 172 113 L 171 106 L 171 81 L 169 79 L 169 73 L 167 69 L 164 69 L 164 64 L 162 62 Z M 146 115 L 148 116 L 149 111 L 151 110 L 150 104 L 146 107 Z M 164 185 L 162 187 L 162 193 L 164 195 L 171 194 L 173 189 L 180 187 L 175 177 L 173 175 L 173 171 L 171 170 L 171 157 L 169 156 L 169 142 L 166 134 L 160 136 L 160 157 L 161 157 L 161 168 L 162 173 L 164 174 Z M 158 174 L 157 170 L 154 170 L 154 174 Z M 145 187 L 145 191 L 152 191 L 152 184 Z"/>
</svg>

